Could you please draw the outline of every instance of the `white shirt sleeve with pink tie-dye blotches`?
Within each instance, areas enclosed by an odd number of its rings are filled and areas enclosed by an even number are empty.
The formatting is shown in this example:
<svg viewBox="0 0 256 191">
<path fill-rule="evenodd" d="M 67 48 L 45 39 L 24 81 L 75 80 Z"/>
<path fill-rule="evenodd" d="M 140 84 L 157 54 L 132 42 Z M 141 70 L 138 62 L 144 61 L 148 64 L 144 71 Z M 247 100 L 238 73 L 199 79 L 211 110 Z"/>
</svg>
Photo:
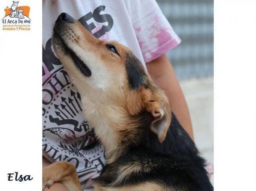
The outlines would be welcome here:
<svg viewBox="0 0 256 191">
<path fill-rule="evenodd" d="M 126 0 L 126 6 L 145 63 L 180 44 L 180 38 L 155 0 Z"/>
</svg>

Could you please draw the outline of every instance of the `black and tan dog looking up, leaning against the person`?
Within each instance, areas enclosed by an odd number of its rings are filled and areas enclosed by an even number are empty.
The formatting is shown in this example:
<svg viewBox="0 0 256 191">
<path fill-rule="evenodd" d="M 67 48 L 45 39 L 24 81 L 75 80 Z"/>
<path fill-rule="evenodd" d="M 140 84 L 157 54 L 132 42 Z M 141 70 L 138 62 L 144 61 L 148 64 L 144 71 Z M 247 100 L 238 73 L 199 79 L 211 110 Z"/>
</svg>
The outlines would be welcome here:
<svg viewBox="0 0 256 191">
<path fill-rule="evenodd" d="M 54 50 L 106 149 L 94 190 L 213 191 L 205 160 L 132 51 L 97 39 L 67 13 L 53 31 Z M 43 188 L 54 182 L 81 190 L 76 168 L 66 161 L 43 168 Z"/>
</svg>

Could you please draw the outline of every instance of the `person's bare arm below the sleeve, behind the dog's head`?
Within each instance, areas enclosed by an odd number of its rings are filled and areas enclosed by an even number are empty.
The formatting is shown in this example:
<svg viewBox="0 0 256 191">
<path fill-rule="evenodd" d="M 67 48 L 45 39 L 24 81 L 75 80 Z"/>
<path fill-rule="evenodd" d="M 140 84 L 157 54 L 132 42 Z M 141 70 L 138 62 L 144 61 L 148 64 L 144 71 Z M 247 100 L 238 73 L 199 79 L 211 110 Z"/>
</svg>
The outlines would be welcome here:
<svg viewBox="0 0 256 191">
<path fill-rule="evenodd" d="M 146 63 L 146 67 L 155 84 L 166 92 L 173 113 L 175 113 L 182 127 L 194 140 L 187 103 L 170 61 L 163 54 L 155 60 Z"/>
</svg>

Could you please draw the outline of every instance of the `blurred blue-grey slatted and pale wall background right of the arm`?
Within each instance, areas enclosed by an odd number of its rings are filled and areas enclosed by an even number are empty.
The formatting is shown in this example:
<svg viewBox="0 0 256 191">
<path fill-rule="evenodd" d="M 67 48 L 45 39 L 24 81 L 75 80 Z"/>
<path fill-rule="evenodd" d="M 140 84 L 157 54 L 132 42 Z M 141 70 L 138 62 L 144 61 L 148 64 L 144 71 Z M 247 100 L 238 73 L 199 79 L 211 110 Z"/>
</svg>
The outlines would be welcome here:
<svg viewBox="0 0 256 191">
<path fill-rule="evenodd" d="M 213 0 L 157 3 L 182 40 L 167 56 L 187 100 L 195 143 L 213 163 Z"/>
</svg>

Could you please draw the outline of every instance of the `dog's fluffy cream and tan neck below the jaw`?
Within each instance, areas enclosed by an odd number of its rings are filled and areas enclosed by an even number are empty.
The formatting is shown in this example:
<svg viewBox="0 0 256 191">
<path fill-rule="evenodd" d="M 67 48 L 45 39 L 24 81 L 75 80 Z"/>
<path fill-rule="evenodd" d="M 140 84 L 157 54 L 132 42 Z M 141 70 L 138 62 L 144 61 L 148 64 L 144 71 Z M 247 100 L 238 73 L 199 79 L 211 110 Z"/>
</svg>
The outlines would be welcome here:
<svg viewBox="0 0 256 191">
<path fill-rule="evenodd" d="M 107 163 L 113 163 L 128 147 L 128 141 L 124 139 L 129 139 L 131 131 L 136 131 L 136 121 L 124 108 L 114 104 L 92 101 L 85 96 L 81 101 L 85 118 L 106 149 Z"/>
</svg>

